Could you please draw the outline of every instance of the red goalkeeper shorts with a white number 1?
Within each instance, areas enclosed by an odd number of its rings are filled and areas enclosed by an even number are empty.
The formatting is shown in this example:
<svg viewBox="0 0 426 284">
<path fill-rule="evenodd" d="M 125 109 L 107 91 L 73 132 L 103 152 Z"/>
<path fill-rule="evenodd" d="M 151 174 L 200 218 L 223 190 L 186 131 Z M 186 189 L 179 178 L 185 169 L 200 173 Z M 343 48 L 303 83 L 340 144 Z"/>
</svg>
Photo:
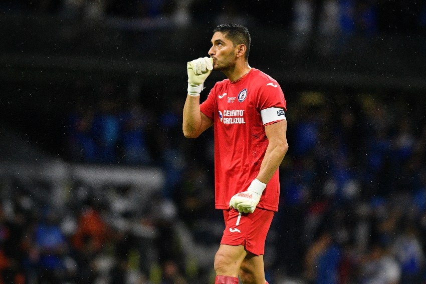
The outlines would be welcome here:
<svg viewBox="0 0 426 284">
<path fill-rule="evenodd" d="M 265 240 L 274 211 L 256 208 L 253 213 L 240 213 L 237 209 L 224 210 L 225 230 L 221 244 L 244 245 L 256 255 L 265 254 Z"/>
</svg>

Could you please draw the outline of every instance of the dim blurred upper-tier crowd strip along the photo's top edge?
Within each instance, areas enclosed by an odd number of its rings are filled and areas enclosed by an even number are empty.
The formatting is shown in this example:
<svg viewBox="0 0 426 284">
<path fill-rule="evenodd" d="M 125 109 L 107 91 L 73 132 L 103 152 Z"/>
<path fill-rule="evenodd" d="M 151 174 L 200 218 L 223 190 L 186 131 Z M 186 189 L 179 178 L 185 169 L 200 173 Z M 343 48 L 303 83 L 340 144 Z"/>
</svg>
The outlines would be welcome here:
<svg viewBox="0 0 426 284">
<path fill-rule="evenodd" d="M 403 0 L 2 0 L 0 8 L 8 13 L 43 13 L 65 18 L 169 18 L 178 25 L 207 21 L 291 25 L 300 33 L 327 34 L 340 30 L 371 35 L 378 31 L 424 31 L 426 26 L 426 3 Z"/>
</svg>

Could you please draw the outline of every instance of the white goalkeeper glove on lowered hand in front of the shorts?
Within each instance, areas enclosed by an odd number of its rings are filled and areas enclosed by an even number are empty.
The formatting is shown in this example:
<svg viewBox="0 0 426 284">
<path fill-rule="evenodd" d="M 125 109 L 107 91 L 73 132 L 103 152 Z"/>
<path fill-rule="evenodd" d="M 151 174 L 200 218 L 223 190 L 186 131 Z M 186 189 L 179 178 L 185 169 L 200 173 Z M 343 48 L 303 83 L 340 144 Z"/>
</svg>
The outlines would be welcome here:
<svg viewBox="0 0 426 284">
<path fill-rule="evenodd" d="M 231 198 L 229 206 L 242 213 L 253 213 L 259 203 L 266 184 L 255 178 L 246 191 L 237 193 Z"/>
</svg>

